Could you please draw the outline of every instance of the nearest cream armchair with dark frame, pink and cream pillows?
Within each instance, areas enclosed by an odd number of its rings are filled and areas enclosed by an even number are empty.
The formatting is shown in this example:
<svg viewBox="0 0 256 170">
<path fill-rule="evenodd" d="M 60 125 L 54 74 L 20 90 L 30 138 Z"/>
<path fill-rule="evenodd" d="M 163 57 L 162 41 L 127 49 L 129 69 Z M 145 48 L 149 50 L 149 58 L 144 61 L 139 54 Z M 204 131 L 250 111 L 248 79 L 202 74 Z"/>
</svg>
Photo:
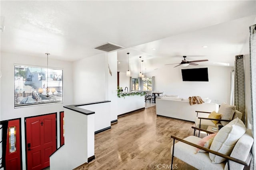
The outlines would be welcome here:
<svg viewBox="0 0 256 170">
<path fill-rule="evenodd" d="M 249 166 L 252 158 L 250 150 L 254 140 L 251 130 L 246 130 L 240 119 L 232 120 L 218 133 L 211 135 L 203 139 L 196 136 L 185 139 L 171 136 L 172 165 L 175 164 L 176 157 L 202 170 L 243 170 L 244 166 Z M 176 141 L 178 142 L 175 143 Z"/>
</svg>

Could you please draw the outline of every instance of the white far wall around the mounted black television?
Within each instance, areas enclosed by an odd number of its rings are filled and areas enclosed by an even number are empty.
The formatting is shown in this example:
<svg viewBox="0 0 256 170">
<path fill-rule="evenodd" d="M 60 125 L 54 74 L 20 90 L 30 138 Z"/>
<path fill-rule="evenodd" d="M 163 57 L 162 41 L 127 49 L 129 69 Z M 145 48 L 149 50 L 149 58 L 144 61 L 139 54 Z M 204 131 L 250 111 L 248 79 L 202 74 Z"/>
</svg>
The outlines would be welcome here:
<svg viewBox="0 0 256 170">
<path fill-rule="evenodd" d="M 181 69 L 208 67 L 209 82 L 184 82 L 182 81 Z M 182 98 L 189 96 L 209 97 L 212 103 L 229 103 L 230 71 L 232 67 L 224 66 L 187 66 L 176 67 L 164 66 L 147 76 L 155 76 L 155 90 L 163 91 L 164 94 L 179 95 Z"/>
</svg>

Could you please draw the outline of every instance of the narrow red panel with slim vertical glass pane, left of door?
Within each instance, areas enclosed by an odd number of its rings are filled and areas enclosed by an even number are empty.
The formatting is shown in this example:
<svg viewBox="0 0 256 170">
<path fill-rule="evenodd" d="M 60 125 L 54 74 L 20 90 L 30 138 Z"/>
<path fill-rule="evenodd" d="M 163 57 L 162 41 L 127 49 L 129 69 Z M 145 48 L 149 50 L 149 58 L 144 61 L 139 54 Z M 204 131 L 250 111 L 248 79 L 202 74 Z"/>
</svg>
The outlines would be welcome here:
<svg viewBox="0 0 256 170">
<path fill-rule="evenodd" d="M 20 119 L 8 121 L 6 170 L 20 170 Z"/>
</svg>

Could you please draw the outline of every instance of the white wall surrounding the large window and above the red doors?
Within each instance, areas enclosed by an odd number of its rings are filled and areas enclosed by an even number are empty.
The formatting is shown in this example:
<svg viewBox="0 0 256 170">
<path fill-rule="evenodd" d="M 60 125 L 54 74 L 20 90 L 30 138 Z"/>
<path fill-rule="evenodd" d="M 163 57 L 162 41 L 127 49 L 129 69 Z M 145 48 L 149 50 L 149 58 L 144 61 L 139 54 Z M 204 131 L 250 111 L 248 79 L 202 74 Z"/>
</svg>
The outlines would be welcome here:
<svg viewBox="0 0 256 170">
<path fill-rule="evenodd" d="M 63 68 L 63 104 L 49 104 L 32 107 L 22 107 L 14 109 L 14 63 L 36 66 L 46 66 L 46 58 L 38 58 L 31 56 L 22 56 L 12 53 L 1 53 L 1 121 L 15 119 L 21 117 L 21 133 L 22 133 L 22 166 L 26 169 L 25 158 L 25 127 L 24 117 L 42 115 L 46 113 L 57 112 L 57 123 L 59 123 L 59 112 L 63 111 L 64 105 L 73 104 L 73 86 L 72 86 L 72 63 L 66 61 L 52 60 L 49 56 L 49 67 Z M 59 124 L 57 125 L 58 147 L 59 142 Z"/>
</svg>

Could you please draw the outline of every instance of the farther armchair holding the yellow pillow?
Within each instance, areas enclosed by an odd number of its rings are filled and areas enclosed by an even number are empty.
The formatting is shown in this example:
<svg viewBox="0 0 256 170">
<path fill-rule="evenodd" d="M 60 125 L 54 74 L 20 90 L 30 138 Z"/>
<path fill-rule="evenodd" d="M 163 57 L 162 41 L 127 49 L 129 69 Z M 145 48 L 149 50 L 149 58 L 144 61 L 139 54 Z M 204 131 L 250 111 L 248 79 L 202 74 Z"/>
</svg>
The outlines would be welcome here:
<svg viewBox="0 0 256 170">
<path fill-rule="evenodd" d="M 224 126 L 233 119 L 236 119 L 236 117 L 239 119 L 242 118 L 242 113 L 236 110 L 236 106 L 228 104 L 222 104 L 218 110 L 218 113 L 214 111 L 196 111 L 196 114 L 195 124 L 196 127 L 201 129 L 207 129 L 208 126 Z"/>
</svg>

